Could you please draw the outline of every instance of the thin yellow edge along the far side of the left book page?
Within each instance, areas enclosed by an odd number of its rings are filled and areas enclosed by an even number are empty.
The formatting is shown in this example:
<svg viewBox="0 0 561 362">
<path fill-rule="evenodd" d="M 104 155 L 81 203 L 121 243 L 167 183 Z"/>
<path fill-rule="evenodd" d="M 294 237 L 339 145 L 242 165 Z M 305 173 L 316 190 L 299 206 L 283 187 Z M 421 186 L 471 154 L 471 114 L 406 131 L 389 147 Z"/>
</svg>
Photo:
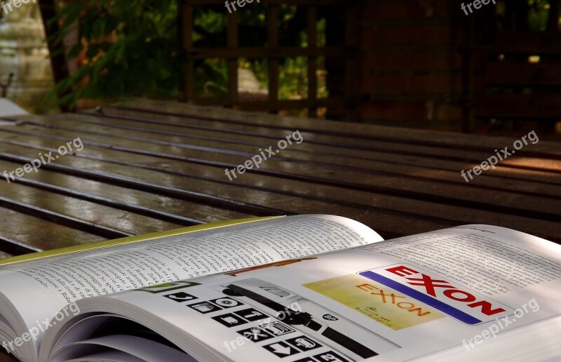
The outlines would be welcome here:
<svg viewBox="0 0 561 362">
<path fill-rule="evenodd" d="M 121 239 L 98 241 L 96 243 L 89 243 L 85 245 L 68 246 L 67 248 L 47 250 L 47 251 L 42 251 L 40 253 L 31 253 L 31 254 L 25 254 L 16 257 L 8 257 L 7 259 L 0 260 L 0 266 L 7 265 L 7 264 L 14 264 L 16 262 L 26 262 L 28 260 L 43 259 L 44 257 L 52 257 L 58 255 L 79 253 L 81 251 L 86 251 L 86 250 L 107 248 L 109 246 L 123 245 L 128 243 L 137 243 L 139 241 L 158 239 L 163 236 L 189 234 L 191 232 L 200 232 L 202 230 L 217 229 L 219 227 L 228 227 L 232 225 L 245 224 L 248 222 L 276 219 L 278 217 L 284 217 L 284 216 L 248 217 L 246 219 L 209 222 L 208 224 L 195 225 L 192 227 L 182 227 L 181 229 L 168 230 L 165 232 L 154 232 L 150 234 L 128 236 L 126 238 L 121 238 Z"/>
</svg>

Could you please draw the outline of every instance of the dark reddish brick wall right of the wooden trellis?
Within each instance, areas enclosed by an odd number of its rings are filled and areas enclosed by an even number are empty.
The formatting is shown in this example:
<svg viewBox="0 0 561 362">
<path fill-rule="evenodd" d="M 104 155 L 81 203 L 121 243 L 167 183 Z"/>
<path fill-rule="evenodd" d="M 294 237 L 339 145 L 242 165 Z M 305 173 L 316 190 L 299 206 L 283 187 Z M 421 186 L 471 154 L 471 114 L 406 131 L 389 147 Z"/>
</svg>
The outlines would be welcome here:
<svg viewBox="0 0 561 362">
<path fill-rule="evenodd" d="M 450 0 L 359 2 L 356 116 L 367 123 L 460 130 L 461 10 Z"/>
</svg>

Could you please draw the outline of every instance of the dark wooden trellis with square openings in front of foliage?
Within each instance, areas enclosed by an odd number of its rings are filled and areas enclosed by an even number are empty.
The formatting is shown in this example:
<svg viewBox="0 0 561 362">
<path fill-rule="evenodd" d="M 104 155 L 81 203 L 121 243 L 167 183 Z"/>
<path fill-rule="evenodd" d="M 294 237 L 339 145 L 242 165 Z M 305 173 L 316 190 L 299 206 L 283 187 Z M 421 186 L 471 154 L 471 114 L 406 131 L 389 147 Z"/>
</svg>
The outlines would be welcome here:
<svg viewBox="0 0 561 362">
<path fill-rule="evenodd" d="M 357 34 L 354 27 L 356 7 L 354 1 L 348 0 L 266 0 L 260 4 L 266 8 L 267 44 L 262 47 L 241 47 L 238 44 L 238 13 L 244 9 L 227 13 L 227 46 L 225 48 L 196 48 L 194 46 L 194 6 L 224 4 L 224 0 L 183 0 L 182 1 L 182 41 L 187 55 L 184 79 L 184 101 L 196 104 L 223 105 L 245 110 L 261 110 L 276 113 L 283 109 L 308 109 L 309 116 L 317 115 L 318 107 L 350 108 L 356 102 L 356 86 L 353 72 L 357 55 Z M 253 1 L 252 6 L 256 4 Z M 307 47 L 287 47 L 279 45 L 279 7 L 283 4 L 305 6 L 307 22 Z M 247 4 L 250 6 L 250 4 Z M 327 27 L 337 26 L 339 32 L 344 32 L 343 43 L 331 46 L 318 46 L 318 8 L 330 6 L 344 14 L 344 24 L 329 24 Z M 308 93 L 306 99 L 280 100 L 279 62 L 285 57 L 306 57 Z M 330 90 L 327 98 L 318 98 L 318 57 L 344 58 L 344 79 L 337 80 L 335 87 Z M 227 100 L 202 100 L 195 94 L 195 62 L 196 60 L 224 58 L 227 62 Z M 267 58 L 269 76 L 269 98 L 267 100 L 243 101 L 238 96 L 238 59 L 239 58 Z M 328 69 L 329 71 L 329 69 Z M 330 76 L 329 74 L 327 76 Z M 333 84 L 334 82 L 330 82 Z M 339 88 L 338 91 L 334 88 Z"/>
</svg>

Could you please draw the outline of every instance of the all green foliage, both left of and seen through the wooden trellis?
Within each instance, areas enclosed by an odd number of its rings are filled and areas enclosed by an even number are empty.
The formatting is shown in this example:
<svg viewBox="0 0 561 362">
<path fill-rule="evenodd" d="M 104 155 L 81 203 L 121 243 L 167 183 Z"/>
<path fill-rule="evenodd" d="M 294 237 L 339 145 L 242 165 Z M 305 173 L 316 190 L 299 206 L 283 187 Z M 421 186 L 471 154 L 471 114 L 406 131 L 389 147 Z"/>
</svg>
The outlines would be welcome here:
<svg viewBox="0 0 561 362">
<path fill-rule="evenodd" d="M 281 6 L 279 42 L 281 46 L 307 46 L 306 15 L 296 6 Z M 179 43 L 177 0 L 88 0 L 67 2 L 58 16 L 61 29 L 53 39 L 60 43 L 76 30 L 79 43 L 66 49 L 69 59 L 81 56 L 85 65 L 56 84 L 50 97 L 71 90 L 53 101 L 71 108 L 81 98 L 119 100 L 127 97 L 178 98 L 182 89 L 185 59 Z M 238 12 L 239 45 L 266 46 L 265 8 L 246 6 Z M 227 15 L 224 6 L 194 6 L 194 46 L 227 46 Z M 325 44 L 325 20 L 318 22 L 318 46 Z M 319 68 L 325 60 L 320 58 Z M 227 96 L 227 67 L 224 59 L 197 60 L 194 78 L 198 96 Z M 239 67 L 252 70 L 267 88 L 268 61 L 241 59 Z M 306 58 L 280 60 L 279 98 L 306 98 Z M 320 80 L 320 97 L 327 96 Z"/>
</svg>

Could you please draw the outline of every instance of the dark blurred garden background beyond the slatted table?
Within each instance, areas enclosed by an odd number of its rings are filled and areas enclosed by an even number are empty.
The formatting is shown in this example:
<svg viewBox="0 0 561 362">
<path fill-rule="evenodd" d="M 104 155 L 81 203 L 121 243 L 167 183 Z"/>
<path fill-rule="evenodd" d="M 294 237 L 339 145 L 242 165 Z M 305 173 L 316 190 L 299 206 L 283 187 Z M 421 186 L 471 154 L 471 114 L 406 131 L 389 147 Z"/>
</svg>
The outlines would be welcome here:
<svg viewBox="0 0 561 362">
<path fill-rule="evenodd" d="M 464 3 L 8 1 L 2 97 L 39 114 L 140 97 L 561 140 L 559 1 Z"/>
</svg>

